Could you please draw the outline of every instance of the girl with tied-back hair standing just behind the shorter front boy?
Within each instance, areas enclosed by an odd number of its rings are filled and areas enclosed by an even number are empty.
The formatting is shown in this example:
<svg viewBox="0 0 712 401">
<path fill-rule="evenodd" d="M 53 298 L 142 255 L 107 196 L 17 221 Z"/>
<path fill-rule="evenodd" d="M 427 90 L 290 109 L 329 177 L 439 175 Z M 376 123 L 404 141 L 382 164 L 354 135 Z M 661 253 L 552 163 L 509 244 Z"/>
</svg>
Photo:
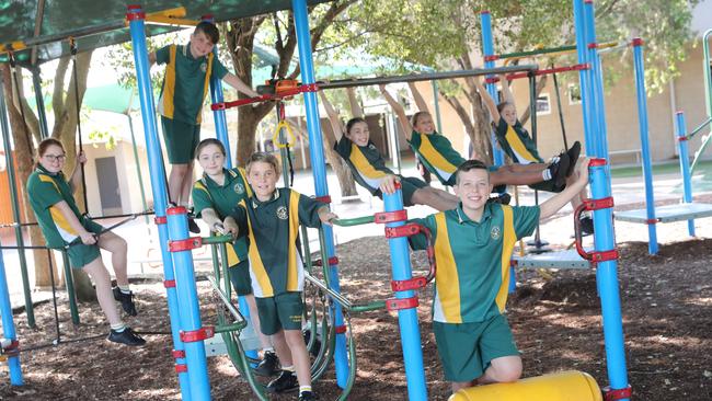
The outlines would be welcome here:
<svg viewBox="0 0 712 401">
<path fill-rule="evenodd" d="M 210 231 L 223 233 L 222 220 L 242 199 L 252 196 L 243 169 L 226 169 L 225 146 L 217 139 L 204 139 L 195 149 L 196 159 L 203 168 L 203 177 L 193 185 L 193 204 L 196 216 L 200 217 Z M 260 316 L 252 294 L 248 244 L 241 237 L 228 247 L 228 275 L 238 296 L 243 296 L 250 309 L 250 319 L 260 336 L 264 357 L 254 373 L 273 376 L 279 373 L 279 360 L 274 353 L 269 337 L 260 330 Z"/>
</svg>

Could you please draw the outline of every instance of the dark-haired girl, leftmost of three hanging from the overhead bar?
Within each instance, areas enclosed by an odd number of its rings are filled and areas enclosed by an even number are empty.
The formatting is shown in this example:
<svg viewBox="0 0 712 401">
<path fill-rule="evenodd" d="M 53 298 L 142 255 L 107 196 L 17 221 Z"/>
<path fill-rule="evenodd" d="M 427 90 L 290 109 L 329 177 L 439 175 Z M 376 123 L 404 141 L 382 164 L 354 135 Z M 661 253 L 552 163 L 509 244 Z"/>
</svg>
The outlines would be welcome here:
<svg viewBox="0 0 712 401">
<path fill-rule="evenodd" d="M 420 179 L 401 176 L 387 168 L 383 157 L 370 140 L 366 119 L 354 117 L 344 127 L 323 91 L 319 91 L 319 94 L 336 139 L 334 150 L 346 161 L 356 182 L 371 195 L 380 198 L 383 193 L 392 194 L 395 192 L 395 182 L 400 182 L 405 206 L 427 205 L 437 210 L 457 206 L 457 197 L 452 194 L 433 188 Z"/>
</svg>

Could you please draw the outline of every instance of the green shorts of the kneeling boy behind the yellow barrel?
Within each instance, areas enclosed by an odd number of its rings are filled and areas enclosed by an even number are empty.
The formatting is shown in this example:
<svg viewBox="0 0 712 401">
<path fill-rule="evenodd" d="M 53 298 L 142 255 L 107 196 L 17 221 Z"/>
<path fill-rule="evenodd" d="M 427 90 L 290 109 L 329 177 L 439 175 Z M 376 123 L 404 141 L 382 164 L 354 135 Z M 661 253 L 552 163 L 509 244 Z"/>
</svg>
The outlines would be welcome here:
<svg viewBox="0 0 712 401">
<path fill-rule="evenodd" d="M 433 322 L 437 352 L 448 381 L 471 381 L 494 358 L 519 355 L 507 318 L 499 314 L 478 323 Z"/>
</svg>

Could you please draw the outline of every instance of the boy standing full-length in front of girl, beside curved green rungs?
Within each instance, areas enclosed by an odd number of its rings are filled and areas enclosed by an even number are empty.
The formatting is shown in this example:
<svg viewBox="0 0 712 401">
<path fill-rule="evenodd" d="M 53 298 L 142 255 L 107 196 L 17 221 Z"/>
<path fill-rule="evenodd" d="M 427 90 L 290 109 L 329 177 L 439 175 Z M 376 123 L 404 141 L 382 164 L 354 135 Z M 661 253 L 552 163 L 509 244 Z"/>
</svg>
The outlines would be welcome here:
<svg viewBox="0 0 712 401">
<path fill-rule="evenodd" d="M 301 334 L 305 268 L 297 249 L 299 225 L 318 228 L 336 215 L 329 206 L 290 188 L 277 188 L 279 162 L 265 152 L 250 157 L 248 182 L 253 196 L 242 199 L 223 221 L 226 231 L 249 239 L 250 276 L 262 332 L 272 336 L 283 374 L 269 392 L 299 389 L 299 400 L 314 400 L 309 354 Z M 296 370 L 296 376 L 295 376 Z"/>
</svg>

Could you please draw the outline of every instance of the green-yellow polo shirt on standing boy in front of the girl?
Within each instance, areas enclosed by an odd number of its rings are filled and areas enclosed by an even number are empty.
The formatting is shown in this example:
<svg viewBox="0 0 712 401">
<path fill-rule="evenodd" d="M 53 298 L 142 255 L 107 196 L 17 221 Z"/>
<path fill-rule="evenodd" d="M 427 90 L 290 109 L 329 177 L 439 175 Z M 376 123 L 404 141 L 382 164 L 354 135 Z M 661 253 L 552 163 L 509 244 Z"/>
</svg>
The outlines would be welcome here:
<svg viewBox="0 0 712 401">
<path fill-rule="evenodd" d="M 319 209 L 325 204 L 290 188 L 278 188 L 267 202 L 242 199 L 231 216 L 246 236 L 250 277 L 255 297 L 301 291 L 305 266 L 299 254 L 299 225 L 321 227 Z"/>
</svg>

